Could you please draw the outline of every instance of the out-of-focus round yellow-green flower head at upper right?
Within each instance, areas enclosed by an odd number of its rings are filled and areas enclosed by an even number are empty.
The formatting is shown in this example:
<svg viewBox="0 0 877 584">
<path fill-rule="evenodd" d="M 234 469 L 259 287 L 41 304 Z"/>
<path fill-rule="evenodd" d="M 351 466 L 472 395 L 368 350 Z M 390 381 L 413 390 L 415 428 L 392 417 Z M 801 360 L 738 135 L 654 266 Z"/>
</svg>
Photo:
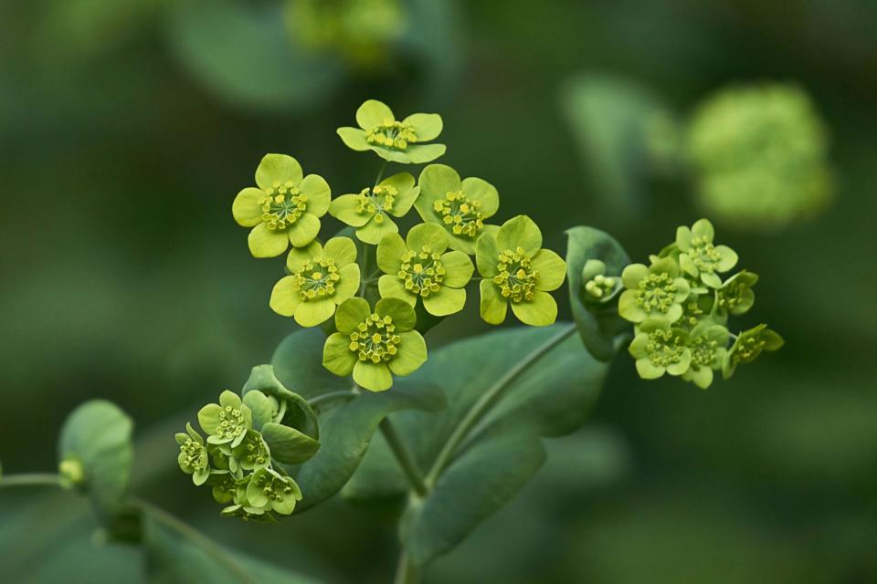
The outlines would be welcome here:
<svg viewBox="0 0 877 584">
<path fill-rule="evenodd" d="M 779 229 L 830 201 L 826 130 L 797 86 L 722 89 L 694 112 L 686 141 L 698 203 L 724 223 Z"/>
</svg>

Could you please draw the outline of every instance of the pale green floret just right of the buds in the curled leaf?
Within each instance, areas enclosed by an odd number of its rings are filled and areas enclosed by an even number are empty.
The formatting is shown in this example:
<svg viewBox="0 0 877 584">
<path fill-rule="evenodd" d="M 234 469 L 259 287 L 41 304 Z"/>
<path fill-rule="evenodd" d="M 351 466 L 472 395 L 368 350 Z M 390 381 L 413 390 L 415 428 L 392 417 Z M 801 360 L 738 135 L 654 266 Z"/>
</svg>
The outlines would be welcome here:
<svg viewBox="0 0 877 584">
<path fill-rule="evenodd" d="M 630 322 L 646 318 L 676 322 L 682 317 L 682 302 L 690 287 L 672 258 L 662 257 L 649 267 L 631 264 L 624 268 L 621 281 L 627 288 L 618 298 L 618 314 L 623 318 Z"/>
</svg>

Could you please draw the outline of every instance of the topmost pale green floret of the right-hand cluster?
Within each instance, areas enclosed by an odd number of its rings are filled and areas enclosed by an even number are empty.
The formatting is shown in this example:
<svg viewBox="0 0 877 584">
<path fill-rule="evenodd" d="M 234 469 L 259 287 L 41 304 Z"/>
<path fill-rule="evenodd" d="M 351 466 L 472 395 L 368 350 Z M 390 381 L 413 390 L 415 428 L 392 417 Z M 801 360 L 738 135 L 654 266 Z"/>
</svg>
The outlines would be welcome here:
<svg viewBox="0 0 877 584">
<path fill-rule="evenodd" d="M 727 245 L 713 245 L 713 224 L 701 219 L 692 228 L 676 230 L 676 245 L 681 252 L 679 265 L 691 276 L 700 276 L 703 284 L 717 288 L 722 286 L 718 274 L 737 265 L 737 254 Z"/>
</svg>

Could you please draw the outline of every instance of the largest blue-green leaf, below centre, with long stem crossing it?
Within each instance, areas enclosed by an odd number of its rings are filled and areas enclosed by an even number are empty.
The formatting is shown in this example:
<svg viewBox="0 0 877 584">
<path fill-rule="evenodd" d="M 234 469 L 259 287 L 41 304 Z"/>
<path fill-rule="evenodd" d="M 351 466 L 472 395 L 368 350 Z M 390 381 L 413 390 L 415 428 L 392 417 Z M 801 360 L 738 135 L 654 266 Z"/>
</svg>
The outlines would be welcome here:
<svg viewBox="0 0 877 584">
<path fill-rule="evenodd" d="M 481 396 L 535 351 L 564 337 L 509 382 L 502 399 L 473 427 L 426 499 L 409 503 L 402 537 L 418 563 L 459 544 L 536 472 L 542 461 L 539 436 L 569 433 L 586 421 L 608 365 L 585 350 L 572 326 L 507 328 L 462 340 L 433 351 L 407 378 L 410 383 L 436 383 L 452 404 L 438 414 L 399 412 L 392 418 L 396 433 L 426 470 Z M 499 477 L 500 485 L 489 482 L 492 495 L 482 488 L 484 476 L 476 472 L 482 465 Z M 382 439 L 375 440 L 343 489 L 351 499 L 406 492 L 406 479 Z"/>
</svg>

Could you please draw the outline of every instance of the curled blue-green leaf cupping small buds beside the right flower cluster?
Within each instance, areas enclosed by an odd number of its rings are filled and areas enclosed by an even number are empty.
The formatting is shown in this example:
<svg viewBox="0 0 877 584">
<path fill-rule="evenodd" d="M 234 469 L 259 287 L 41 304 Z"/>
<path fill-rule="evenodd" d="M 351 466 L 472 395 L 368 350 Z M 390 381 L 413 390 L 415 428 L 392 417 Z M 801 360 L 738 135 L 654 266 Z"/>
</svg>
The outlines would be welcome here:
<svg viewBox="0 0 877 584">
<path fill-rule="evenodd" d="M 587 260 L 598 259 L 606 264 L 606 275 L 620 277 L 630 263 L 628 253 L 615 240 L 593 227 L 573 227 L 566 231 L 566 281 L 569 302 L 576 320 L 578 334 L 586 348 L 598 360 L 609 361 L 615 356 L 616 337 L 629 331 L 630 325 L 618 316 L 618 304 L 583 301 L 582 268 Z"/>
</svg>

